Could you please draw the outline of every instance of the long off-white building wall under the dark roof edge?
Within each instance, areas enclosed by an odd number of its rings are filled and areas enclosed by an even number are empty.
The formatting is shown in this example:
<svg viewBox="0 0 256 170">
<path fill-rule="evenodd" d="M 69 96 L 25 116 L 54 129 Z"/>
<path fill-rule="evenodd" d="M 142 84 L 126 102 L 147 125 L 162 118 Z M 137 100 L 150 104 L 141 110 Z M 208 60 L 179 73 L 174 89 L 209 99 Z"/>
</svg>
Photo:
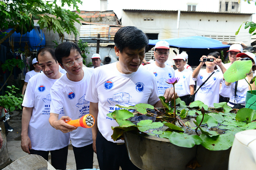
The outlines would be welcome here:
<svg viewBox="0 0 256 170">
<path fill-rule="evenodd" d="M 243 41 L 249 45 L 251 37 L 248 30 L 241 28 L 244 21 L 251 21 L 251 15 L 182 12 L 177 29 L 177 11 L 124 11 L 122 26 L 135 26 L 145 33 L 158 33 L 158 39 L 188 36 L 235 36 L 233 41 Z M 153 20 L 144 20 L 153 18 Z"/>
</svg>

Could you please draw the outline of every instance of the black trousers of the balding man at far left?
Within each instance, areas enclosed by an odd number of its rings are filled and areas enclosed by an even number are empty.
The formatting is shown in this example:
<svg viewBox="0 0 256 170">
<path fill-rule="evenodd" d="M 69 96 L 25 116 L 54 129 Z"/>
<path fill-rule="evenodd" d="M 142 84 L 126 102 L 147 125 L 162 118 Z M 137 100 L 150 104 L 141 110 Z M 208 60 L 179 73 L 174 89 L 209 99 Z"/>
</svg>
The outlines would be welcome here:
<svg viewBox="0 0 256 170">
<path fill-rule="evenodd" d="M 55 169 L 66 169 L 67 159 L 68 159 L 68 148 L 69 146 L 65 148 L 61 148 L 59 150 L 54 150 L 54 151 L 37 151 L 37 150 L 29 150 L 29 151 L 30 151 L 30 154 L 39 155 L 47 161 L 48 161 L 48 155 L 50 152 L 52 166 Z"/>
</svg>

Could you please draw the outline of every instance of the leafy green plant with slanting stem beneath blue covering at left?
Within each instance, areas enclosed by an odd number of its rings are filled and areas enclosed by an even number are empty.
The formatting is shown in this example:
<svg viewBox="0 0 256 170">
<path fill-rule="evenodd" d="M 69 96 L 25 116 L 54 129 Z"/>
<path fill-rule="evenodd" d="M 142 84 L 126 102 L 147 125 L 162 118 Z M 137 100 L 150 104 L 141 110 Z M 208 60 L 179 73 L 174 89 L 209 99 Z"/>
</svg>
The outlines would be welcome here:
<svg viewBox="0 0 256 170">
<path fill-rule="evenodd" d="M 8 60 L 5 61 L 4 64 L 2 64 L 2 69 L 3 69 L 4 72 L 6 70 L 9 70 L 11 72 L 10 72 L 9 77 L 6 79 L 5 83 L 3 84 L 3 86 L 0 88 L 0 91 L 3 89 L 3 87 L 5 86 L 5 84 L 9 80 L 9 78 L 11 77 L 13 68 L 16 67 L 16 66 L 20 69 L 23 69 L 25 67 L 24 62 L 22 60 L 14 59 L 14 58 L 13 59 L 8 59 Z"/>
</svg>

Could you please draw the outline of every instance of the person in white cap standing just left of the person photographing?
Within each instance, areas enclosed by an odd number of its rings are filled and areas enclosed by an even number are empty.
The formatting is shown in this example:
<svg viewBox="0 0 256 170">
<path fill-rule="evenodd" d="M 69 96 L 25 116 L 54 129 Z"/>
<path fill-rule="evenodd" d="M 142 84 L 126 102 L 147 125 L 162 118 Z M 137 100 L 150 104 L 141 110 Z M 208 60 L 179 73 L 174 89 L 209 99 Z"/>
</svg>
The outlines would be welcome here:
<svg viewBox="0 0 256 170">
<path fill-rule="evenodd" d="M 180 78 L 178 83 L 175 84 L 175 90 L 180 99 L 189 105 L 189 96 L 194 94 L 195 82 L 192 78 L 193 71 L 184 68 L 186 58 L 184 55 L 179 54 L 173 59 L 178 69 L 175 70 L 175 77 Z"/>
</svg>

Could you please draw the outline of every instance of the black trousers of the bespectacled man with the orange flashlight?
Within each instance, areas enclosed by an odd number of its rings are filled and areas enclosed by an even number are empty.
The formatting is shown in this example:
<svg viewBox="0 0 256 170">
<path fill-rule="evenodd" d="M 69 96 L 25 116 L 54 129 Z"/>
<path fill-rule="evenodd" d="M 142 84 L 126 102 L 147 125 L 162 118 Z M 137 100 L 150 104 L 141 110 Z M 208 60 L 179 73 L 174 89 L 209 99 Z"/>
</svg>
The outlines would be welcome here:
<svg viewBox="0 0 256 170">
<path fill-rule="evenodd" d="M 93 168 L 93 144 L 81 148 L 73 146 L 73 151 L 76 160 L 76 169 Z"/>
</svg>

